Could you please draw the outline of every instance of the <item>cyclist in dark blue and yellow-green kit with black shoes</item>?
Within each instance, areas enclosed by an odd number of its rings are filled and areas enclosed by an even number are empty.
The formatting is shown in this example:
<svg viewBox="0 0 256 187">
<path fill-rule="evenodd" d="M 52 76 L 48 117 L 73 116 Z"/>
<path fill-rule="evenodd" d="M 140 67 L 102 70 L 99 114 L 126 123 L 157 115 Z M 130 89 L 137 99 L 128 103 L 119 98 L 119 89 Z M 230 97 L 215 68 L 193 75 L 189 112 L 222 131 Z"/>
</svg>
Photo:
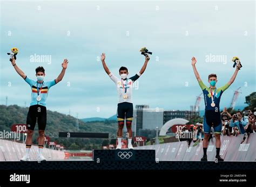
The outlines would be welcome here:
<svg viewBox="0 0 256 187">
<path fill-rule="evenodd" d="M 192 67 L 194 70 L 194 74 L 196 75 L 197 81 L 203 90 L 204 100 L 205 100 L 205 116 L 204 116 L 204 140 L 203 140 L 203 149 L 204 156 L 201 158 L 201 161 L 207 161 L 207 146 L 208 139 L 210 137 L 211 127 L 214 128 L 215 139 L 216 139 L 216 159 L 218 161 L 224 161 L 220 155 L 220 133 L 221 133 L 221 117 L 220 117 L 220 109 L 219 103 L 222 93 L 230 87 L 230 85 L 234 82 L 235 77 L 237 76 L 240 65 L 238 64 L 235 68 L 235 72 L 231 77 L 230 81 L 227 82 L 223 87 L 216 88 L 215 84 L 217 83 L 217 75 L 210 74 L 208 76 L 208 83 L 210 83 L 210 87 L 207 87 L 203 81 L 201 80 L 197 68 L 196 63 L 197 60 L 195 57 L 192 57 Z"/>
</svg>

